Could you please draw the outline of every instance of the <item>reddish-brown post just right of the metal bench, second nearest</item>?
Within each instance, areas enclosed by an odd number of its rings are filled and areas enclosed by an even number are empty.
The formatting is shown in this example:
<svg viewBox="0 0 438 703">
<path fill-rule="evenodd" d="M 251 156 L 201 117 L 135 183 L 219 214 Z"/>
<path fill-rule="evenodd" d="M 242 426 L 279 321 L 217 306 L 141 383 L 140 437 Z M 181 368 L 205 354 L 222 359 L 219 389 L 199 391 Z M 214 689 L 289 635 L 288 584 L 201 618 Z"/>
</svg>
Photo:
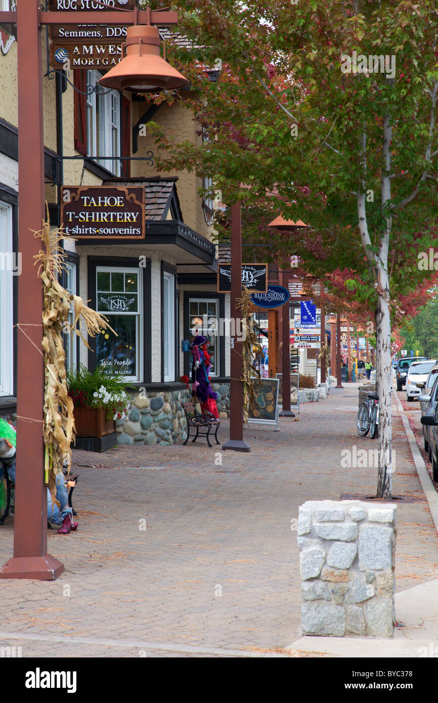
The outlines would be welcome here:
<svg viewBox="0 0 438 703">
<path fill-rule="evenodd" d="M 242 220 L 240 202 L 231 205 L 231 319 L 240 318 L 238 298 L 242 297 Z M 236 325 L 237 328 L 237 325 Z M 243 439 L 243 344 L 237 337 L 231 342 L 230 439 L 222 449 L 251 451 Z"/>
</svg>

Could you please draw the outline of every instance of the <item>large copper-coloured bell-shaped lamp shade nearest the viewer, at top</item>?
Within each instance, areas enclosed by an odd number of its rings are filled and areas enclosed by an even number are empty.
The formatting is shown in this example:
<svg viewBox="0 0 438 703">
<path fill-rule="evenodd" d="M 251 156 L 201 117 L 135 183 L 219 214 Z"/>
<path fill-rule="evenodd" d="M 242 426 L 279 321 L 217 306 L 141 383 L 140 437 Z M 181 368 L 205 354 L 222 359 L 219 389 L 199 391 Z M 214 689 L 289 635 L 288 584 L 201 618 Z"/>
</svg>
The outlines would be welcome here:
<svg viewBox="0 0 438 703">
<path fill-rule="evenodd" d="M 157 93 L 188 85 L 188 80 L 160 56 L 160 32 L 152 25 L 127 27 L 126 56 L 99 80 L 105 88 Z"/>
</svg>

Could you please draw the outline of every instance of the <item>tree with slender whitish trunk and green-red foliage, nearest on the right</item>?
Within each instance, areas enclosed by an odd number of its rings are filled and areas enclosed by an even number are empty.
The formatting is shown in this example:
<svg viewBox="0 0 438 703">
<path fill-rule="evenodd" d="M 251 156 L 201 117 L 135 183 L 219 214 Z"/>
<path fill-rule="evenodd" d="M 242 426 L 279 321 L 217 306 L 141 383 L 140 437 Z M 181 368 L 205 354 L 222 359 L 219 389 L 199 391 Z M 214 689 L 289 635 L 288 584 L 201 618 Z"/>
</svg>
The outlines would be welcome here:
<svg viewBox="0 0 438 703">
<path fill-rule="evenodd" d="M 436 2 L 186 0 L 179 12 L 193 51 L 172 56 L 197 99 L 178 99 L 200 138 L 157 129 L 157 166 L 211 176 L 227 203 L 275 199 L 309 224 L 306 268 L 317 269 L 314 241 L 327 271 L 352 271 L 350 292 L 375 311 L 377 495 L 391 498 L 393 292 L 412 288 L 403 272 L 437 224 Z M 205 73 L 214 65 L 217 82 Z M 285 259 L 299 253 L 293 237 L 275 245 Z"/>
</svg>

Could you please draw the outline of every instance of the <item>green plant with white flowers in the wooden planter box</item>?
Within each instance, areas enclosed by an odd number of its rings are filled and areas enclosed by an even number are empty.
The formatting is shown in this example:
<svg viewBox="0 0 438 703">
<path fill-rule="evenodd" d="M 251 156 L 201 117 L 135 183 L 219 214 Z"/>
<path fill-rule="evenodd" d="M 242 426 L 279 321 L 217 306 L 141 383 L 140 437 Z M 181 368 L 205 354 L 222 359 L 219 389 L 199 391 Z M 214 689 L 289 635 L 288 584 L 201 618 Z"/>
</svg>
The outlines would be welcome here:
<svg viewBox="0 0 438 703">
<path fill-rule="evenodd" d="M 123 378 L 97 366 L 93 372 L 83 363 L 67 371 L 68 394 L 77 407 L 105 408 L 107 420 L 120 420 L 127 412 L 130 398 Z"/>
</svg>

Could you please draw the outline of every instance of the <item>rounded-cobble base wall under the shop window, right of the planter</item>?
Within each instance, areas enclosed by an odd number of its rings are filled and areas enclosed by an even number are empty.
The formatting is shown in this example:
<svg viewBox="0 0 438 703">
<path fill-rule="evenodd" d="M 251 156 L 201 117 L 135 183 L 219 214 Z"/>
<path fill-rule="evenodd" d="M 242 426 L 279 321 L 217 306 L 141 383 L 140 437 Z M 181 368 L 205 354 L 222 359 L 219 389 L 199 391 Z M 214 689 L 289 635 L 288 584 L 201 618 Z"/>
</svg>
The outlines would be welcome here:
<svg viewBox="0 0 438 703">
<path fill-rule="evenodd" d="M 190 391 L 143 390 L 129 396 L 131 408 L 127 417 L 115 422 L 117 444 L 169 446 L 186 439 L 187 423 L 181 402 L 190 399 Z"/>
</svg>

